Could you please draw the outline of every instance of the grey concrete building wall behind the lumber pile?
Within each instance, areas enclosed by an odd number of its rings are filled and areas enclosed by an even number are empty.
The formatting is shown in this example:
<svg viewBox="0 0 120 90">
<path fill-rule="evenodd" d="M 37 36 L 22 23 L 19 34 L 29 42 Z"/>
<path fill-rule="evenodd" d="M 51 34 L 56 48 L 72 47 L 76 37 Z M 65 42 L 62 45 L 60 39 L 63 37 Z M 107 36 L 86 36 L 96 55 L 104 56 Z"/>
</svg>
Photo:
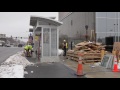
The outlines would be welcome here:
<svg viewBox="0 0 120 90">
<path fill-rule="evenodd" d="M 89 26 L 89 36 L 91 30 L 95 30 L 95 12 L 59 12 L 59 20 L 63 22 L 59 27 L 60 43 L 61 38 L 68 39 L 69 42 L 73 39 L 86 40 L 85 25 Z"/>
</svg>

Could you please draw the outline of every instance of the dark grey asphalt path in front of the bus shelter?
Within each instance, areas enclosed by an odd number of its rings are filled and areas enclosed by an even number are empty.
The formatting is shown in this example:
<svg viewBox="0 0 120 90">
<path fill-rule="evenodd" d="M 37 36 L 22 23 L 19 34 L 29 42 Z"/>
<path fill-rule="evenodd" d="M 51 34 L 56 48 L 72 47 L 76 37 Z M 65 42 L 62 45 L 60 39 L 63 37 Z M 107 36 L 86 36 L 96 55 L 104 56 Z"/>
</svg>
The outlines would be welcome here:
<svg viewBox="0 0 120 90">
<path fill-rule="evenodd" d="M 35 63 L 33 66 L 27 66 L 25 71 L 25 78 L 85 78 L 77 77 L 76 72 L 61 62 L 54 63 L 40 63 L 38 60 L 28 58 L 30 62 Z"/>
</svg>

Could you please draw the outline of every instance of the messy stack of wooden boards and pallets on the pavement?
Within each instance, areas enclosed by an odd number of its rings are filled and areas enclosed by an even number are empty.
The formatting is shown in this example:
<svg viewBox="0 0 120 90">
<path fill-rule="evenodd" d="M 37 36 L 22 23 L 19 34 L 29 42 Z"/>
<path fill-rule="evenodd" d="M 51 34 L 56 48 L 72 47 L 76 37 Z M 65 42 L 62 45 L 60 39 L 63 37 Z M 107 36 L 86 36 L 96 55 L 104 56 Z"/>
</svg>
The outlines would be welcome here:
<svg viewBox="0 0 120 90">
<path fill-rule="evenodd" d="M 101 43 L 81 42 L 75 45 L 73 50 L 67 51 L 67 58 L 79 60 L 79 54 L 83 54 L 84 63 L 101 61 L 101 50 L 104 49 Z"/>
</svg>

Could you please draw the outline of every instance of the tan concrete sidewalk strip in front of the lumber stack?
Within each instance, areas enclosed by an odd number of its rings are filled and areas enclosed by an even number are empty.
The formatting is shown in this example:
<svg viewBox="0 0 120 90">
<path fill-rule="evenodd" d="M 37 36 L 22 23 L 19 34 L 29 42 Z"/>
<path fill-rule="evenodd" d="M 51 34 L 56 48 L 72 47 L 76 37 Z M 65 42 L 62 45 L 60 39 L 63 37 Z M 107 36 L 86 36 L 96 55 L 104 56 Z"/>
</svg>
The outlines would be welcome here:
<svg viewBox="0 0 120 90">
<path fill-rule="evenodd" d="M 76 61 L 68 60 L 64 57 L 61 57 L 60 59 L 64 65 L 77 71 L 78 63 Z M 93 64 L 83 64 L 83 71 L 87 78 L 120 78 L 120 72 L 112 72 L 112 70 L 106 69 L 102 66 L 92 66 Z"/>
</svg>

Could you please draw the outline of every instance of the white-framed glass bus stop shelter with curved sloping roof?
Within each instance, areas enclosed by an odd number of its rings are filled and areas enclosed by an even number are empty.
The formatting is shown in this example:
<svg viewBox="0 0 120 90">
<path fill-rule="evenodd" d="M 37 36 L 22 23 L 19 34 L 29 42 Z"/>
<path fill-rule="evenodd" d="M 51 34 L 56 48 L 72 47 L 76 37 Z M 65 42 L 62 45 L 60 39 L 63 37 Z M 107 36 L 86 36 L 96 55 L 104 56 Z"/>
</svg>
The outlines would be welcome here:
<svg viewBox="0 0 120 90">
<path fill-rule="evenodd" d="M 45 17 L 30 17 L 30 26 L 33 26 L 33 58 L 40 62 L 54 62 L 59 60 L 59 30 L 62 22 Z"/>
</svg>

